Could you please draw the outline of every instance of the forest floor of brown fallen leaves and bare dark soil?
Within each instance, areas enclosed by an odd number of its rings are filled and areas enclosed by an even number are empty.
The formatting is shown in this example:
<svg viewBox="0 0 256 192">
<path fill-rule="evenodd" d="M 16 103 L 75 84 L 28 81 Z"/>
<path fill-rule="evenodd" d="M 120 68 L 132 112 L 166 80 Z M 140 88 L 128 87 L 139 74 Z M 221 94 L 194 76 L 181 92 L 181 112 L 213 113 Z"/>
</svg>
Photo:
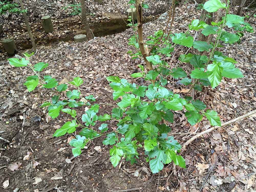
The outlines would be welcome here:
<svg viewBox="0 0 256 192">
<path fill-rule="evenodd" d="M 73 77 L 81 77 L 81 93 L 94 95 L 95 103 L 106 103 L 100 105 L 98 115 L 109 114 L 112 106 L 107 104 L 116 104 L 118 101 L 113 101 L 110 96 L 111 88 L 105 77 L 114 75 L 131 83 L 142 83 L 141 79 L 130 76 L 139 70 L 137 65 L 142 62 L 131 59 L 127 54 L 128 50 L 134 50 L 127 45 L 127 39 L 133 35 L 133 30 L 95 37 L 87 42 L 73 42 L 73 35 L 82 30 L 82 25 L 78 17 L 66 17 L 67 12 L 61 9 L 64 5 L 64 1 L 49 0 L 41 4 L 24 1 L 33 35 L 35 39 L 40 39 L 37 41 L 36 53 L 30 58 L 31 63 L 49 63 L 42 75 L 51 75 L 59 83 L 68 84 Z M 157 18 L 159 14 L 168 11 L 170 2 L 150 1 L 148 5 L 150 8 L 144 15 L 152 17 L 150 22 L 144 24 L 145 37 L 166 26 L 167 20 Z M 122 13 L 129 8 L 126 2 L 118 6 Z M 90 18 L 92 28 L 104 20 L 119 18 L 111 1 L 103 1 L 102 5 L 89 1 L 88 7 L 93 13 Z M 192 19 L 200 19 L 200 10 L 195 8 L 194 2 L 180 3 L 175 10 L 173 33 L 187 30 Z M 37 20 L 46 14 L 54 21 L 55 31 L 51 34 L 41 31 L 41 24 Z M 21 22 L 21 17 L 10 15 L 5 19 L 1 42 L 3 38 L 14 38 L 18 55 L 23 56 L 23 52 L 31 53 L 25 23 Z M 255 22 L 255 17 L 249 21 L 254 29 Z M 70 41 L 61 40 L 68 37 Z M 51 38 L 60 40 L 47 41 Z M 221 122 L 227 122 L 256 108 L 255 33 L 244 33 L 240 44 L 225 45 L 219 50 L 238 62 L 236 67 L 241 69 L 244 78 L 224 78 L 214 90 L 206 87 L 201 92 L 194 92 L 194 98 L 202 100 L 208 109 L 217 111 Z M 178 56 L 186 51 L 177 47 L 172 57 L 166 58 L 166 61 L 170 66 L 175 66 Z M 120 166 L 113 167 L 109 160 L 111 146 L 103 145 L 102 138 L 91 141 L 81 155 L 73 158 L 72 147 L 68 142 L 74 135 L 52 137 L 56 129 L 70 117 L 61 114 L 56 119 L 48 118 L 47 110 L 40 108 L 40 105 L 50 101 L 54 93 L 41 88 L 28 93 L 23 83 L 31 75 L 31 71 L 10 66 L 7 58 L 3 48 L 0 48 L 1 191 L 101 192 L 129 191 L 140 187 L 145 187 L 143 191 L 147 192 L 256 190 L 256 115 L 221 127 L 191 142 L 181 154 L 186 160 L 186 169 L 167 164 L 162 171 L 153 175 L 142 150 L 139 151 L 140 159 L 137 164 L 131 165 L 122 159 Z M 191 70 L 188 65 L 183 67 L 187 71 Z M 179 94 L 184 94 L 188 89 L 174 79 L 169 79 L 167 87 Z M 102 92 L 102 89 L 105 91 Z M 78 118 L 81 117 L 84 108 L 76 110 Z M 107 123 L 113 130 L 116 128 L 116 122 Z M 98 125 L 99 123 L 95 126 Z M 192 136 L 207 130 L 210 124 L 203 119 L 199 124 L 190 126 L 184 113 L 178 112 L 174 115 L 174 123 L 169 126 L 172 128 L 170 134 L 182 145 Z M 76 133 L 79 131 L 80 128 Z"/>
</svg>

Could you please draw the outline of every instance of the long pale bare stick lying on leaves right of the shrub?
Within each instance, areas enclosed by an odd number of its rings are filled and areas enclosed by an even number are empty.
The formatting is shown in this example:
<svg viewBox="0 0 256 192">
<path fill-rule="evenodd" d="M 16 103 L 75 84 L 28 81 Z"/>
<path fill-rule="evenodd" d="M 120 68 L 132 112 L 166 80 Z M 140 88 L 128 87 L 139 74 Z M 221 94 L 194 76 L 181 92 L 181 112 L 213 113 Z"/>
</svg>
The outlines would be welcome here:
<svg viewBox="0 0 256 192">
<path fill-rule="evenodd" d="M 255 113 L 256 113 L 256 110 L 251 111 L 250 113 L 247 113 L 247 114 L 242 115 L 242 116 L 240 116 L 240 117 L 238 117 L 238 118 L 232 119 L 232 120 L 230 120 L 230 121 L 228 121 L 228 122 L 226 122 L 226 123 L 222 123 L 221 126 L 214 126 L 214 127 L 211 127 L 210 129 L 207 129 L 207 130 L 205 130 L 205 131 L 202 131 L 200 134 L 195 135 L 195 136 L 192 137 L 190 140 L 188 140 L 186 143 L 184 143 L 184 144 L 182 145 L 182 148 L 181 148 L 181 149 L 182 149 L 182 150 L 185 150 L 186 147 L 187 147 L 187 145 L 188 145 L 189 143 L 191 143 L 192 141 L 194 141 L 197 137 L 199 137 L 199 136 L 201 136 L 201 135 L 204 135 L 204 134 L 206 134 L 206 133 L 209 133 L 209 132 L 211 132 L 211 131 L 213 131 L 213 130 L 215 130 L 215 129 L 218 129 L 218 128 L 220 128 L 220 127 L 225 127 L 226 125 L 229 125 L 229 124 L 231 124 L 231 123 L 234 123 L 234 122 L 236 122 L 236 121 L 239 121 L 239 120 L 241 120 L 241 119 L 243 119 L 243 118 L 247 118 L 247 117 L 249 117 L 250 115 L 253 115 L 253 114 L 255 114 Z"/>
</svg>

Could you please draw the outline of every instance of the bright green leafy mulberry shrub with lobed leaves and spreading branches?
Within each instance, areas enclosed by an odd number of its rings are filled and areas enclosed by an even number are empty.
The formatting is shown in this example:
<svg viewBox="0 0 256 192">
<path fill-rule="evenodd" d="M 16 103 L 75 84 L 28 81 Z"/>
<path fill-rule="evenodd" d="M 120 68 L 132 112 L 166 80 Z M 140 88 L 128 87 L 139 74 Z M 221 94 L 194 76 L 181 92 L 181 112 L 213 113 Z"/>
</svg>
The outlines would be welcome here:
<svg viewBox="0 0 256 192">
<path fill-rule="evenodd" d="M 243 17 L 228 14 L 228 7 L 229 5 L 219 0 L 207 1 L 203 8 L 208 12 L 215 12 L 219 8 L 226 11 L 220 22 L 207 25 L 204 21 L 194 19 L 185 33 L 164 34 L 159 30 L 149 36 L 150 40 L 145 42 L 145 46 L 152 51 L 146 59 L 150 61 L 154 70 L 146 71 L 144 66 L 139 65 L 140 72 L 131 74 L 134 78 L 142 78 L 147 82 L 146 85 L 137 85 L 118 76 L 107 77 L 106 79 L 110 81 L 109 86 L 113 89 L 113 99 L 121 98 L 121 101 L 114 104 L 115 107 L 107 114 L 97 115 L 99 106 L 106 103 L 91 104 L 92 101 L 96 101 L 93 95 L 85 97 L 81 94 L 80 87 L 83 80 L 80 77 L 74 77 L 73 81 L 69 82 L 69 86 L 72 85 L 69 90 L 68 84 L 59 84 L 50 75 L 41 76 L 41 71 L 48 66 L 48 63 L 39 62 L 32 65 L 29 57 L 33 53 L 24 54 L 25 58 L 21 60 L 10 58 L 9 63 L 16 67 L 28 67 L 33 71 L 34 75 L 28 76 L 24 83 L 29 92 L 37 86 L 43 91 L 46 89 L 54 91 L 51 101 L 45 101 L 41 105 L 42 108 L 47 108 L 49 116 L 56 118 L 60 112 L 71 116 L 72 120 L 65 122 L 53 136 L 70 134 L 76 131 L 77 127 L 82 127 L 76 138 L 69 142 L 73 146 L 74 156 L 80 155 L 81 149 L 89 141 L 104 137 L 102 143 L 112 146 L 110 161 L 113 166 L 117 166 L 121 158 L 125 158 L 131 164 L 137 163 L 140 155 L 137 151 L 140 147 L 148 156 L 153 173 L 163 169 L 164 164 L 171 162 L 185 168 L 184 158 L 178 155 L 181 145 L 169 134 L 172 130 L 168 125 L 174 121 L 174 111 L 184 112 L 191 125 L 200 122 L 203 118 L 208 119 L 212 126 L 220 126 L 221 122 L 216 111 L 206 109 L 202 101 L 189 96 L 189 93 L 182 96 L 167 89 L 167 79 L 180 79 L 180 82 L 189 86 L 190 90 L 201 91 L 204 87 L 214 89 L 223 77 L 243 77 L 241 71 L 234 65 L 237 61 L 217 50 L 223 47 L 221 44 L 239 43 L 243 31 L 253 32 L 250 25 L 244 22 Z M 227 32 L 229 29 L 233 29 L 234 33 Z M 191 36 L 195 31 L 206 36 L 214 34 L 215 42 L 208 44 L 197 41 Z M 160 38 L 163 43 L 158 41 Z M 136 35 L 129 39 L 128 44 L 134 45 L 137 49 L 136 53 L 132 51 L 128 53 L 134 59 L 143 59 Z M 201 53 L 206 52 L 206 54 L 182 54 L 178 58 L 177 67 L 170 68 L 171 63 L 165 59 L 173 56 L 172 52 L 176 45 L 198 50 Z M 188 63 L 193 69 L 189 74 L 183 69 L 184 63 Z M 81 119 L 77 119 L 75 109 L 78 106 L 89 108 Z M 105 123 L 110 120 L 118 122 L 117 129 L 114 131 Z M 97 122 L 102 124 L 95 126 Z"/>
</svg>

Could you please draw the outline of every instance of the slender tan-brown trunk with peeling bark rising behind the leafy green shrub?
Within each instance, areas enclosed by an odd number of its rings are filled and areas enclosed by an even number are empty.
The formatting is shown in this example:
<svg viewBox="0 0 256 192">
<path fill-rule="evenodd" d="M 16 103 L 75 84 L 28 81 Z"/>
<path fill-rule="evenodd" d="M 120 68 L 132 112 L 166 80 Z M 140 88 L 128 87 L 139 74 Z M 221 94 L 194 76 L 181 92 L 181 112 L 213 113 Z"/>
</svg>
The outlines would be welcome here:
<svg viewBox="0 0 256 192">
<path fill-rule="evenodd" d="M 146 59 L 146 57 L 150 56 L 150 52 L 148 47 L 144 47 L 143 44 L 143 33 L 142 33 L 142 7 L 141 0 L 136 1 L 136 12 L 137 12 L 137 32 L 138 32 L 138 44 L 141 51 L 141 54 L 146 62 L 146 68 L 148 71 L 153 70 L 152 64 Z"/>
</svg>

